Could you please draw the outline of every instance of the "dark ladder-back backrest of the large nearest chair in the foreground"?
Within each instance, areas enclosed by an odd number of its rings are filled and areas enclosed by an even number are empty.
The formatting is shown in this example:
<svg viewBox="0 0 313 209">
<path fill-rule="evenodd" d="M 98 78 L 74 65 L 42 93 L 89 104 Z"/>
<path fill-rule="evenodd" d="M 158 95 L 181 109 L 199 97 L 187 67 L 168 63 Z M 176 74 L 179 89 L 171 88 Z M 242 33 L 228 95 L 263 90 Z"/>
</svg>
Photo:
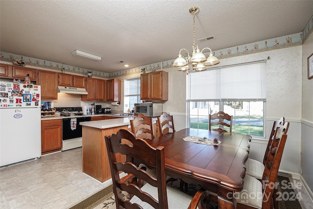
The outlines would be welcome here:
<svg viewBox="0 0 313 209">
<path fill-rule="evenodd" d="M 142 201 L 149 203 L 156 209 L 168 208 L 167 192 L 166 192 L 166 175 L 165 175 L 165 160 L 164 147 L 157 148 L 149 145 L 146 140 L 139 139 L 128 130 L 120 129 L 111 137 L 105 137 L 107 151 L 109 156 L 110 168 L 113 181 L 113 192 L 115 195 L 116 208 L 118 209 L 134 209 L 138 208 L 128 200 L 123 200 L 122 191 L 126 191 L 130 196 L 135 195 Z M 118 162 L 115 157 L 116 153 L 126 155 L 126 162 Z M 156 178 L 150 175 L 144 169 L 138 168 L 136 162 L 144 163 L 147 167 L 156 168 Z M 127 176 L 120 179 L 120 172 L 128 173 Z M 136 180 L 132 182 L 130 180 Z M 158 193 L 158 201 L 149 193 L 142 192 L 136 186 L 138 180 L 144 180 L 147 184 L 156 187 Z"/>
</svg>

